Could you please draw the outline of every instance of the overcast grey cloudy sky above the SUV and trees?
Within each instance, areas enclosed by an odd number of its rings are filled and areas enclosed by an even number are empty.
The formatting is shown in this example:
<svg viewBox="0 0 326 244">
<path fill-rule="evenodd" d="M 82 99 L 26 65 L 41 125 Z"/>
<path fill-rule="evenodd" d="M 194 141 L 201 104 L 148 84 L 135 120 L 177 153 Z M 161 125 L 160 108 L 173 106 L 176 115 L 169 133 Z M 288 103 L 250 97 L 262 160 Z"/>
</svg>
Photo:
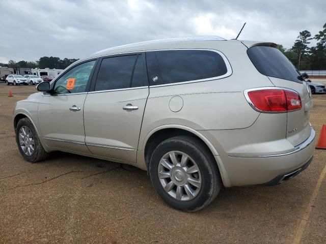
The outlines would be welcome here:
<svg viewBox="0 0 326 244">
<path fill-rule="evenodd" d="M 325 0 L 0 0 L 0 63 L 80 58 L 127 43 L 189 35 L 272 41 L 326 22 Z"/>
</svg>

